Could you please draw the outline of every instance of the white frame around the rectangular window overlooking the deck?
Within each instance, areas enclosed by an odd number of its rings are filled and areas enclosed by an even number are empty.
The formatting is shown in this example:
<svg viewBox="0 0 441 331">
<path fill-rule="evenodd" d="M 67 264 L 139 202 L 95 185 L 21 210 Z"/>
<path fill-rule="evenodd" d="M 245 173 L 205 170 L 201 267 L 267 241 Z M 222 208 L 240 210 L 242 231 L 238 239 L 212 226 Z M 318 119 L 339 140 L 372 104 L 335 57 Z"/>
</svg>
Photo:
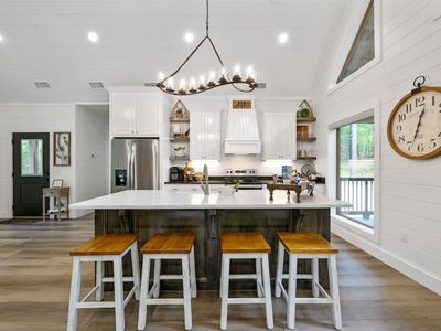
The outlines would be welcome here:
<svg viewBox="0 0 441 331">
<path fill-rule="evenodd" d="M 336 118 L 333 122 L 327 126 L 327 173 L 329 179 L 326 182 L 329 183 L 327 194 L 330 197 L 336 199 L 337 196 L 337 177 L 336 177 L 336 167 L 337 167 L 337 128 L 342 127 L 346 124 L 351 124 L 354 121 L 362 120 L 367 117 L 374 117 L 374 135 L 375 135 L 375 157 L 374 157 L 374 181 L 375 181 L 375 190 L 374 190 L 374 228 L 369 228 L 365 225 L 361 225 L 352 220 L 347 220 L 336 213 L 336 209 L 332 209 L 331 211 L 331 220 L 334 226 L 343 228 L 353 234 L 357 234 L 366 239 L 369 239 L 375 243 L 379 243 L 380 241 L 380 146 L 381 146 L 381 114 L 380 114 L 380 105 L 379 103 L 367 104 L 365 106 L 358 107 L 358 111 L 343 111 L 342 114 L 352 114 L 346 115 L 345 117 Z"/>
</svg>

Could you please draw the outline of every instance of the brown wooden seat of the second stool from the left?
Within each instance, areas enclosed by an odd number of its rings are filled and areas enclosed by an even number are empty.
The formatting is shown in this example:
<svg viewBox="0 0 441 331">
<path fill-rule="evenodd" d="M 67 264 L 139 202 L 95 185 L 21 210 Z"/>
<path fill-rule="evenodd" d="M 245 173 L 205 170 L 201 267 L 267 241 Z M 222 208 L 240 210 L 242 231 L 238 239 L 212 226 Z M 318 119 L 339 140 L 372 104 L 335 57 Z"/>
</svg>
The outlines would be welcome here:
<svg viewBox="0 0 441 331">
<path fill-rule="evenodd" d="M 141 247 L 141 254 L 190 254 L 192 233 L 158 233 Z"/>
</svg>

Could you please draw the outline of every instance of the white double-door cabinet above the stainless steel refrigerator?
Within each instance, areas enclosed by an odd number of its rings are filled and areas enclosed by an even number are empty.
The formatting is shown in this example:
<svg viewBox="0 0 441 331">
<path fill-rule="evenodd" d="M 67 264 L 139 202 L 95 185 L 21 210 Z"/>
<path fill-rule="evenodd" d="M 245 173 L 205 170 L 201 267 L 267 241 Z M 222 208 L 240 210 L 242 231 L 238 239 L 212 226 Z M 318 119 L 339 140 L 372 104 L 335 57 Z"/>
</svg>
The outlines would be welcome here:
<svg viewBox="0 0 441 331">
<path fill-rule="evenodd" d="M 110 135 L 159 137 L 160 110 L 159 95 L 110 92 Z"/>
</svg>

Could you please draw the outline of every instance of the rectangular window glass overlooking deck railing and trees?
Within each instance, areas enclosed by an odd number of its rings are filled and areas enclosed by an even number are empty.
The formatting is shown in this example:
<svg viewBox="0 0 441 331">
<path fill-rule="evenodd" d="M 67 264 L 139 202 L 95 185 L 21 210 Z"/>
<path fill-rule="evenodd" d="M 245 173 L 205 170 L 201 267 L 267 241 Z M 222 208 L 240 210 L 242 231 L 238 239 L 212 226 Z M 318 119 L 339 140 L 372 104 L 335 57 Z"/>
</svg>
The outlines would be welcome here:
<svg viewBox="0 0 441 331">
<path fill-rule="evenodd" d="M 337 128 L 337 197 L 353 204 L 337 214 L 374 228 L 374 117 Z"/>
</svg>

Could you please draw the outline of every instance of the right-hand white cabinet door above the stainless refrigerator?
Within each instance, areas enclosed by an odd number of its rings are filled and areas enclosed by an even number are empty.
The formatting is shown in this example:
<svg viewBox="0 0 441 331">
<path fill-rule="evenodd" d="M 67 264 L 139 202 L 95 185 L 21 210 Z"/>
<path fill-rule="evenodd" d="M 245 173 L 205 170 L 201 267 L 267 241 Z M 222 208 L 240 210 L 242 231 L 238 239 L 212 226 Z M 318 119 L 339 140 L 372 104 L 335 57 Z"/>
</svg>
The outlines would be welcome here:
<svg viewBox="0 0 441 331">
<path fill-rule="evenodd" d="M 139 94 L 136 108 L 136 134 L 159 137 L 160 97 Z"/>
</svg>

